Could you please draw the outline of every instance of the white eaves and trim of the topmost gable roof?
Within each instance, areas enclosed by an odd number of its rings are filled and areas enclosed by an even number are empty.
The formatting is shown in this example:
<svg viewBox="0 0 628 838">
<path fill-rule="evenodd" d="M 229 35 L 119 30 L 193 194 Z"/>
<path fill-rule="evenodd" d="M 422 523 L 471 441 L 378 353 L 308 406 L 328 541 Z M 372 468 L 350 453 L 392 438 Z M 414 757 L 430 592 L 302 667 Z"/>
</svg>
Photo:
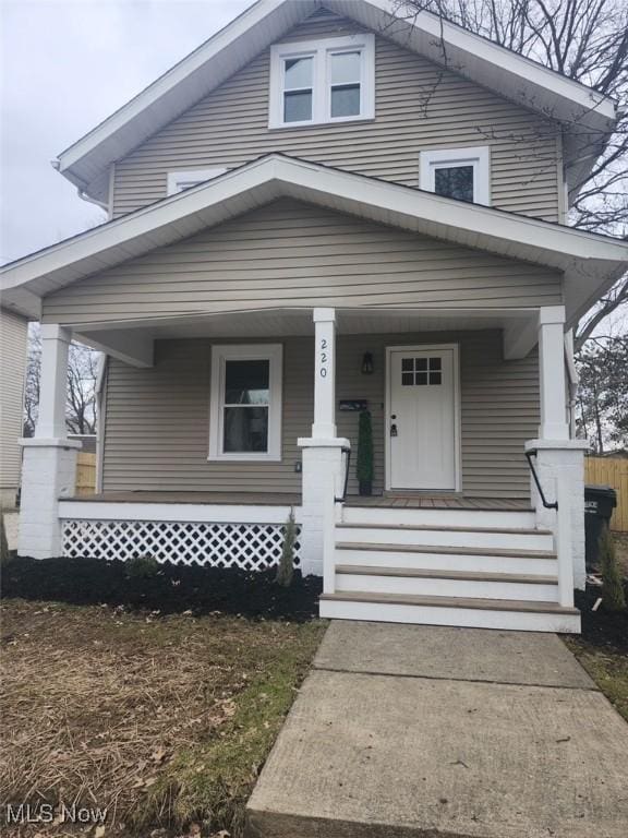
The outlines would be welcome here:
<svg viewBox="0 0 628 838">
<path fill-rule="evenodd" d="M 317 9 L 352 19 L 406 49 L 543 116 L 567 123 L 564 155 L 577 183 L 601 153 L 616 120 L 615 103 L 560 73 L 523 58 L 430 12 L 412 20 L 391 14 L 390 0 L 258 0 L 89 133 L 59 155 L 59 171 L 93 199 L 108 192 L 111 164 L 207 96 Z M 569 124 L 578 131 L 569 133 Z"/>
</svg>

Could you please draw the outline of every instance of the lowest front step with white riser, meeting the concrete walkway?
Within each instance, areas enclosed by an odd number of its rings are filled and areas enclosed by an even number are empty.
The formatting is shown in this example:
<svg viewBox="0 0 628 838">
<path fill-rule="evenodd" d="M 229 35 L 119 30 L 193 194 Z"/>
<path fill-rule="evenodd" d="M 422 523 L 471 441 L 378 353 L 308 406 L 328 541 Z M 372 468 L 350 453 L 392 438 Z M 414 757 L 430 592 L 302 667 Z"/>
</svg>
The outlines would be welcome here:
<svg viewBox="0 0 628 838">
<path fill-rule="evenodd" d="M 323 594 L 321 616 L 522 632 L 580 632 L 580 612 L 557 603 L 470 597 L 338 591 Z"/>
</svg>

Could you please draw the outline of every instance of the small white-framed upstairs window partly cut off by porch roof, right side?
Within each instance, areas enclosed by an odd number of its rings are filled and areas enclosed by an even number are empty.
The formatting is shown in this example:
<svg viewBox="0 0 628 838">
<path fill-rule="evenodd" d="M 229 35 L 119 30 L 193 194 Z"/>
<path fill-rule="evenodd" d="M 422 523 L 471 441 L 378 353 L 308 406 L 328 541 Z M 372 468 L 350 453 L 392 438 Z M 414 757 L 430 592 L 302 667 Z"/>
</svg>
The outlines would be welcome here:
<svg viewBox="0 0 628 838">
<path fill-rule="evenodd" d="M 420 178 L 428 192 L 488 206 L 488 146 L 421 152 Z"/>
</svg>

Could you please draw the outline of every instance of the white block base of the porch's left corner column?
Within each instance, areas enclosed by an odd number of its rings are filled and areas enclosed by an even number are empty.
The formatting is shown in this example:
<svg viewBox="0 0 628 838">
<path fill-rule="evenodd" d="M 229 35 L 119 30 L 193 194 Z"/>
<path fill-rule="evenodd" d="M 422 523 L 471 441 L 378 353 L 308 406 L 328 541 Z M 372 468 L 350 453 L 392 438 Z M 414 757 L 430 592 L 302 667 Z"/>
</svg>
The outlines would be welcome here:
<svg viewBox="0 0 628 838">
<path fill-rule="evenodd" d="M 33 559 L 61 555 L 59 501 L 74 494 L 77 440 L 20 440 L 24 448 L 17 554 Z"/>
</svg>

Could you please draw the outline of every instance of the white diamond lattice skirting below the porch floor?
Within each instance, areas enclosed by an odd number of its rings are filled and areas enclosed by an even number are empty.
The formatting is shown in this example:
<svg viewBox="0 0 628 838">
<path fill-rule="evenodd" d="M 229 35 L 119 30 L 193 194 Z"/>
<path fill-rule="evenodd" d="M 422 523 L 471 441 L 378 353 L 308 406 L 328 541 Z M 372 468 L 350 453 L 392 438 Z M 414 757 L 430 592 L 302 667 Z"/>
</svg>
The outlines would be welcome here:
<svg viewBox="0 0 628 838">
<path fill-rule="evenodd" d="M 87 520 L 62 522 L 63 555 L 125 561 L 149 555 L 158 562 L 263 571 L 277 564 L 282 524 L 214 522 Z M 294 564 L 300 564 L 297 526 Z"/>
</svg>

